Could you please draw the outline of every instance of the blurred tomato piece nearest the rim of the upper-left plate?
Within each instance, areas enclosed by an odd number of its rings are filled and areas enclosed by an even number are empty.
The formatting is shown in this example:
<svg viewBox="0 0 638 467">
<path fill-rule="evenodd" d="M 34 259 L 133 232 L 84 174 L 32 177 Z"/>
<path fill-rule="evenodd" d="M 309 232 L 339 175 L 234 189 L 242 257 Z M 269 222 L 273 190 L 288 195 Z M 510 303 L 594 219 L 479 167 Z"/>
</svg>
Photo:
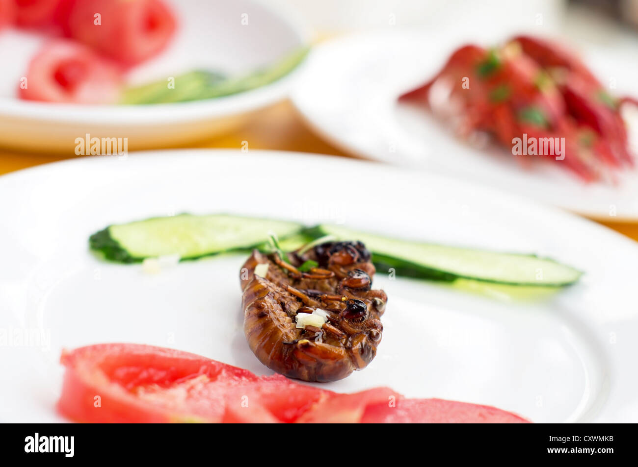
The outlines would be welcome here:
<svg viewBox="0 0 638 467">
<path fill-rule="evenodd" d="M 120 71 L 81 44 L 57 40 L 31 59 L 19 96 L 32 101 L 73 104 L 115 103 Z"/>
</svg>

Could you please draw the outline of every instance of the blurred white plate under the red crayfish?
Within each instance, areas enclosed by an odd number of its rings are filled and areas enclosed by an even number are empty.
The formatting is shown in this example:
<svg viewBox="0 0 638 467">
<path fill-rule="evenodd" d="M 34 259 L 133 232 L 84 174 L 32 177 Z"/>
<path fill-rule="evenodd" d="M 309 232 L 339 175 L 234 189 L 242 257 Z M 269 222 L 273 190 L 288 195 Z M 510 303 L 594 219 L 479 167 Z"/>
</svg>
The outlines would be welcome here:
<svg viewBox="0 0 638 467">
<path fill-rule="evenodd" d="M 505 150 L 472 148 L 426 111 L 397 104 L 400 94 L 434 75 L 466 41 L 457 32 L 404 31 L 326 43 L 306 62 L 293 103 L 318 133 L 353 154 L 498 187 L 590 217 L 638 220 L 638 171 L 623 173 L 614 186 L 582 183 L 560 162 L 534 161 L 526 170 Z M 496 38 L 487 31 L 474 41 L 489 44 Z M 592 50 L 589 57 L 602 82 L 612 82 L 615 93 L 638 95 L 631 61 L 613 62 L 600 52 Z M 638 154 L 638 111 L 628 111 L 627 118 Z"/>
</svg>

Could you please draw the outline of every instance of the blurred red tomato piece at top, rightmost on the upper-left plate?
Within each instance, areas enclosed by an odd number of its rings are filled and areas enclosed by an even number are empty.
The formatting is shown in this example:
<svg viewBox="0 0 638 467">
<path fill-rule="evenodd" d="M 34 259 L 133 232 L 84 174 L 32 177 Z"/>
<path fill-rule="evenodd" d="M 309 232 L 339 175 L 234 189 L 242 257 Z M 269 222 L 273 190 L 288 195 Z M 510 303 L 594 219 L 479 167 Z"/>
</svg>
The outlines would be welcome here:
<svg viewBox="0 0 638 467">
<path fill-rule="evenodd" d="M 175 17 L 160 0 L 74 0 L 64 11 L 67 36 L 126 66 L 158 54 L 175 32 Z"/>
</svg>

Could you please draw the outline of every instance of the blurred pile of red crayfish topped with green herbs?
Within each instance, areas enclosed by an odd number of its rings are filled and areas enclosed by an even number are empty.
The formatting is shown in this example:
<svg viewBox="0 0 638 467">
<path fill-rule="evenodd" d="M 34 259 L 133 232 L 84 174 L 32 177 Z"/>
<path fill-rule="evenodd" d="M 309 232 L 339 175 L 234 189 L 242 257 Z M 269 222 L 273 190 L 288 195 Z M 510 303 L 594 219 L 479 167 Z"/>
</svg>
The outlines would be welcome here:
<svg viewBox="0 0 638 467">
<path fill-rule="evenodd" d="M 447 96 L 431 93 L 436 87 Z M 441 117 L 452 114 L 448 120 L 465 138 L 490 134 L 525 165 L 516 140 L 542 141 L 544 150 L 532 146 L 529 155 L 563 161 L 585 181 L 614 180 L 614 169 L 634 165 L 621 116 L 621 106 L 634 100 L 611 96 L 576 55 L 539 38 L 517 36 L 491 50 L 461 47 L 436 76 L 400 99 Z"/>
</svg>

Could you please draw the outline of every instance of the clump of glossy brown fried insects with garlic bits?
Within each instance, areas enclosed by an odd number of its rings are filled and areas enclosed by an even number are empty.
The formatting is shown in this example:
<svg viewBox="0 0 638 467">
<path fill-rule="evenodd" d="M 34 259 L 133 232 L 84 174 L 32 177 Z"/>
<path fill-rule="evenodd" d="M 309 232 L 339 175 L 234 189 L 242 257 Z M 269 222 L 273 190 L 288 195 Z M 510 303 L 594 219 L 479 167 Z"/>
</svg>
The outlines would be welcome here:
<svg viewBox="0 0 638 467">
<path fill-rule="evenodd" d="M 244 333 L 255 356 L 290 378 L 327 382 L 361 370 L 376 355 L 387 296 L 371 290 L 375 266 L 360 242 L 330 242 L 286 258 L 253 251 L 241 274 Z M 315 261 L 309 273 L 299 271 Z M 255 275 L 268 264 L 266 277 Z M 263 267 L 261 268 L 263 271 Z M 325 322 L 297 327 L 297 315 Z"/>
</svg>

